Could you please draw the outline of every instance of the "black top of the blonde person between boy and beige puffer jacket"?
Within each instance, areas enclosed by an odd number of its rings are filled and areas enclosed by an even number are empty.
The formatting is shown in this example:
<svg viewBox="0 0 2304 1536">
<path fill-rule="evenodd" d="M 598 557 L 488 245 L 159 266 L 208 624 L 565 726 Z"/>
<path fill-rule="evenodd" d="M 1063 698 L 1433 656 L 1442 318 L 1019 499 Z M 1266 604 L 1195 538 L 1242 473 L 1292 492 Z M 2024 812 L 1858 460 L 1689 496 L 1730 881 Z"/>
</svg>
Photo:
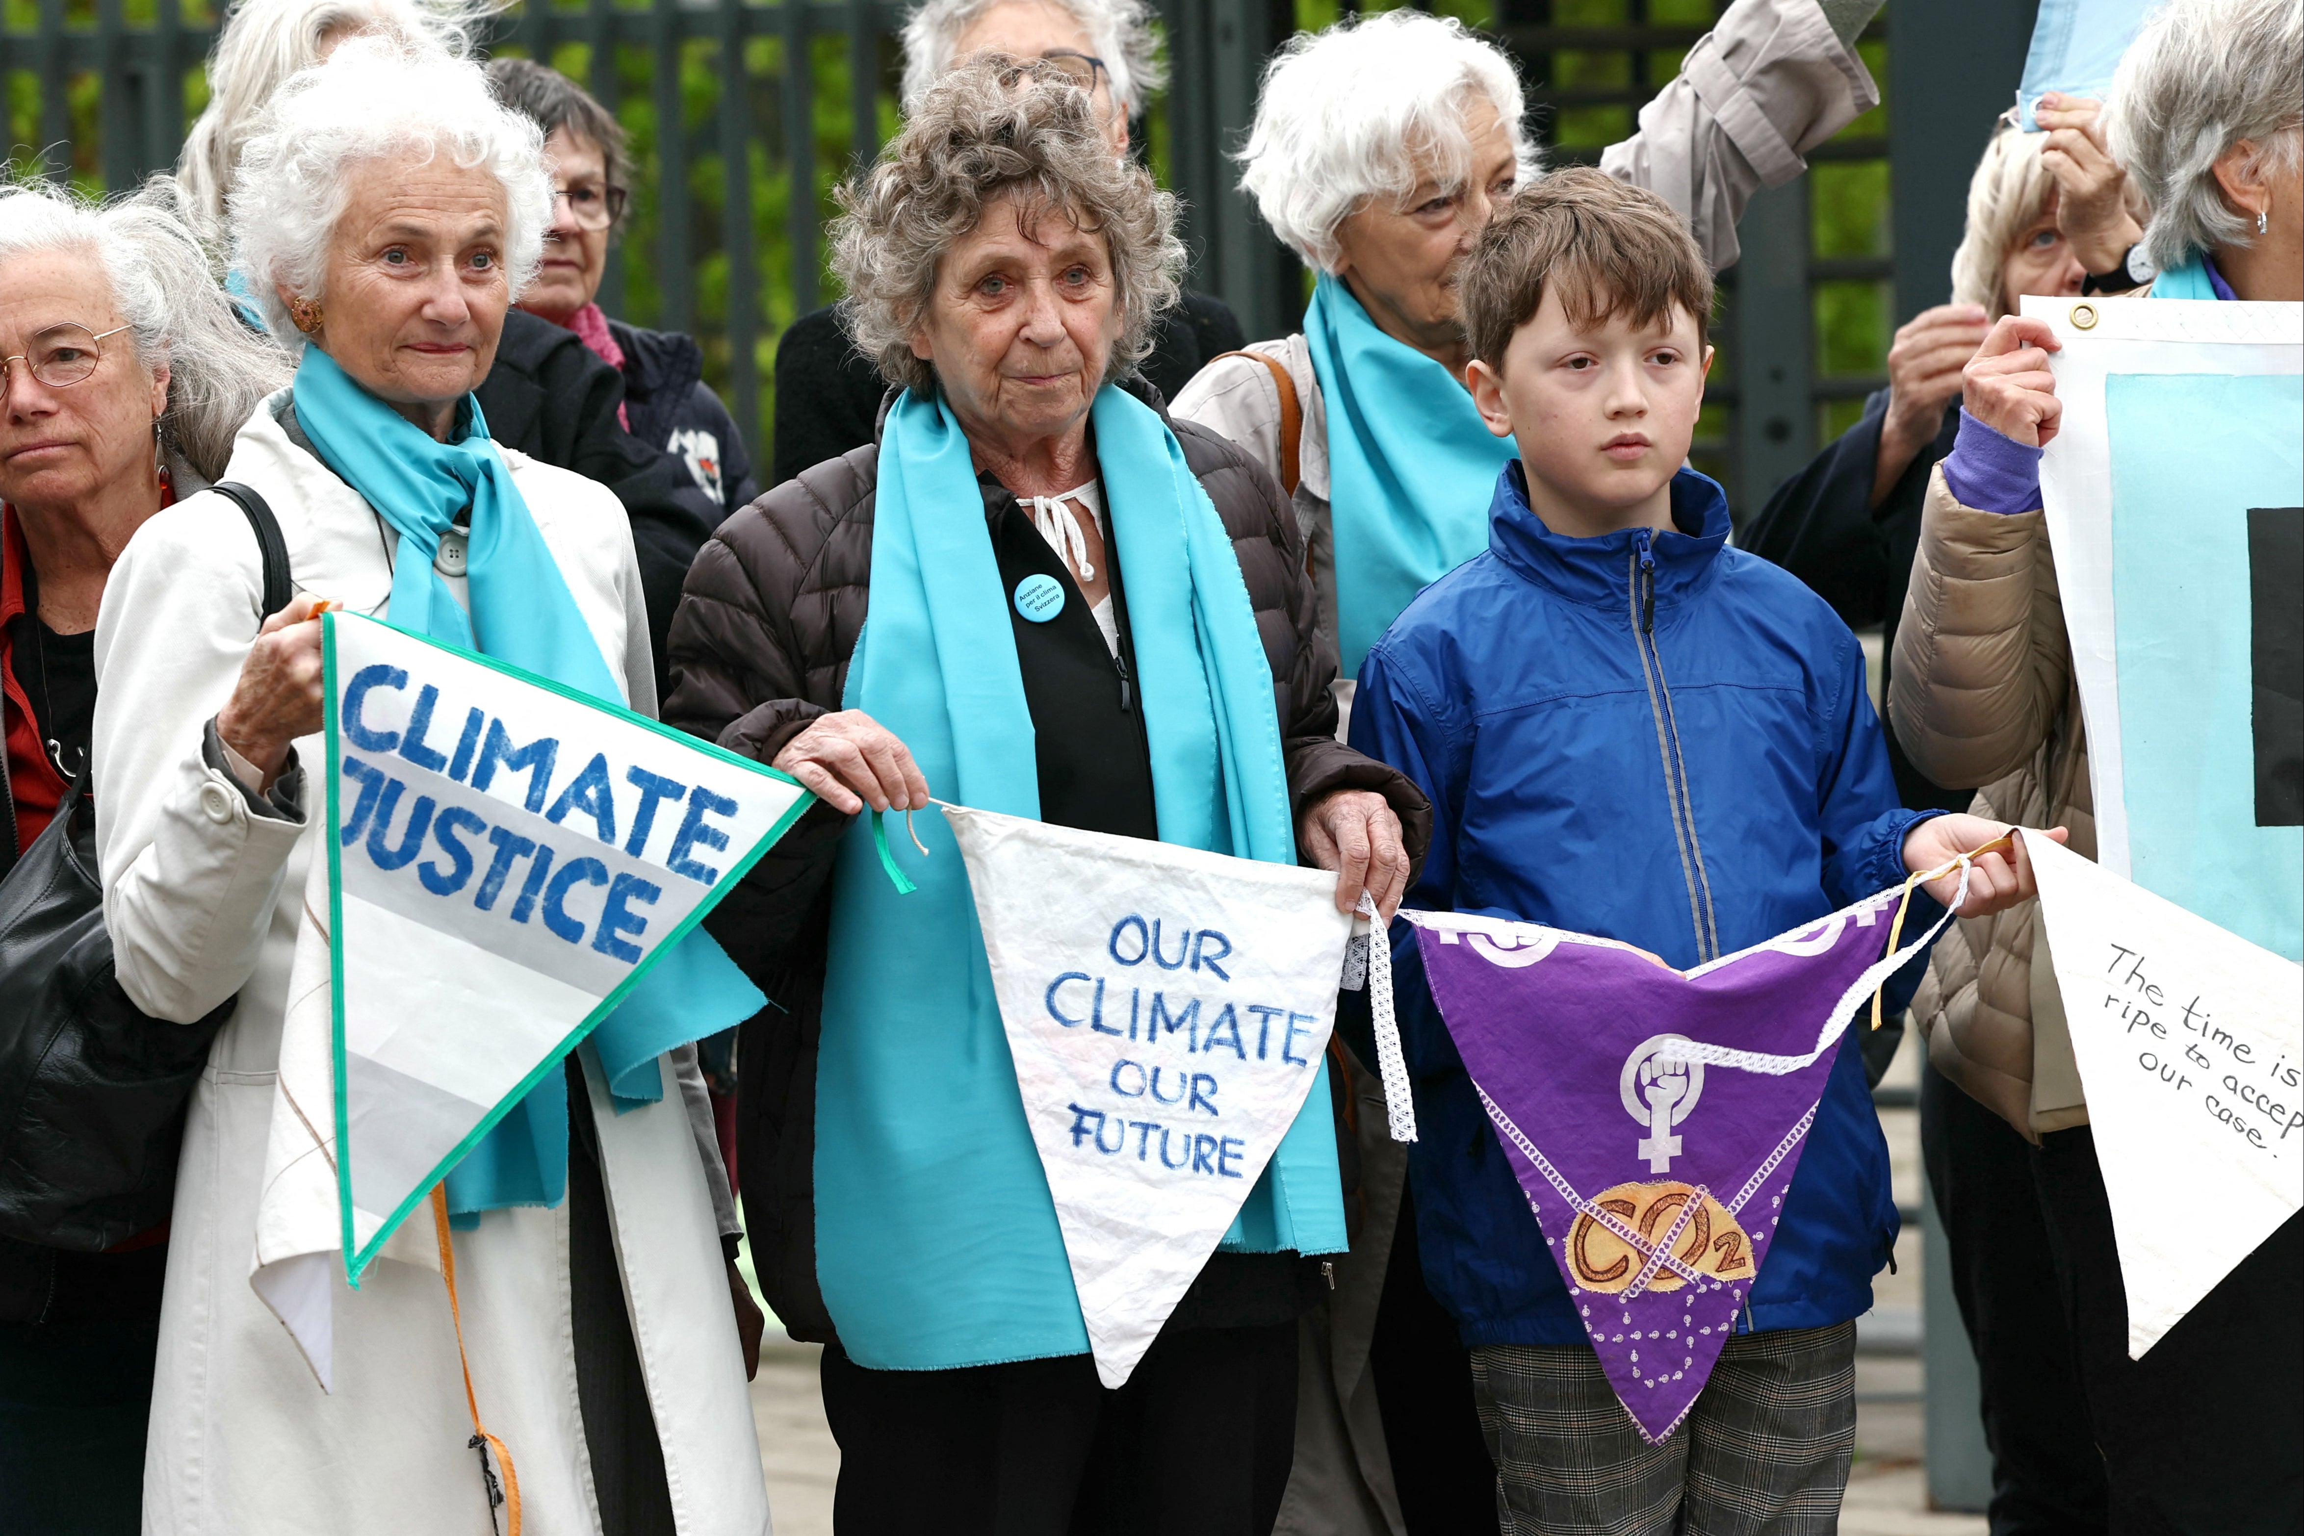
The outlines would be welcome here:
<svg viewBox="0 0 2304 1536">
<path fill-rule="evenodd" d="M 1903 590 L 1919 555 L 1919 514 L 1928 500 L 1928 474 L 1951 454 L 1961 431 L 1961 403 L 1945 408 L 1935 442 L 1919 449 L 1887 500 L 1871 504 L 1873 470 L 1880 463 L 1880 428 L 1887 424 L 1887 389 L 1864 401 L 1864 419 L 1839 442 L 1776 486 L 1767 507 L 1737 537 L 1763 560 L 1781 564 L 1832 603 L 1848 629 L 1880 624 L 1880 677 L 1896 659 L 1896 619 Z M 1903 755 L 1903 742 L 1887 732 L 1887 760 L 1896 774 L 1896 799 L 1912 811 L 1968 811 L 1970 790 L 1942 790 Z"/>
</svg>

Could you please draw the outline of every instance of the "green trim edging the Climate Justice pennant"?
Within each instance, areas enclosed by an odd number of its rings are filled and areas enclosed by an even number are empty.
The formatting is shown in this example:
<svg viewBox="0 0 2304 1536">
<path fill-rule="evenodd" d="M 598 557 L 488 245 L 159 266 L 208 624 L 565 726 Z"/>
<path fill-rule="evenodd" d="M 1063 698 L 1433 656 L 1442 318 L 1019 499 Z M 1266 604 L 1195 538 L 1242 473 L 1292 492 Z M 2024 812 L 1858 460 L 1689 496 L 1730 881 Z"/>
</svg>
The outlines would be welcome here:
<svg viewBox="0 0 2304 1536">
<path fill-rule="evenodd" d="M 809 806 L 816 804 L 816 794 L 809 788 L 804 788 L 797 778 L 793 778 L 790 774 L 783 774 L 783 771 L 772 769 L 767 765 L 753 762 L 751 758 L 733 753 L 733 751 L 719 746 L 717 742 L 705 742 L 703 737 L 691 737 L 684 730 L 673 730 L 670 725 L 664 725 L 661 721 L 652 721 L 645 714 L 634 714 L 631 709 L 624 709 L 620 705 L 601 702 L 599 698 L 585 693 L 581 689 L 569 689 L 564 684 L 553 682 L 551 677 L 539 677 L 539 675 L 535 675 L 535 672 L 530 672 L 525 668 L 516 668 L 516 666 L 509 666 L 509 663 L 502 663 L 502 661 L 493 661 L 493 659 L 482 656 L 477 652 L 468 652 L 468 649 L 463 649 L 458 645 L 445 645 L 440 640 L 433 640 L 431 636 L 417 636 L 417 633 L 408 633 L 406 629 L 394 629 L 392 633 L 399 636 L 399 638 L 403 638 L 403 640 L 417 640 L 422 645 L 431 645 L 433 649 L 449 652 L 452 656 L 461 656 L 463 661 L 475 661 L 475 663 L 479 663 L 479 666 L 484 666 L 484 668 L 488 668 L 493 672 L 502 672 L 505 677 L 511 677 L 516 682 L 525 682 L 525 684 L 530 684 L 535 689 L 544 689 L 544 691 L 558 693 L 560 698 L 567 698 L 571 702 L 585 705 L 588 709 L 599 709 L 601 714 L 617 716 L 617 718 L 622 718 L 622 721 L 627 721 L 631 725 L 645 725 L 647 730 L 657 732 L 659 737 L 677 742 L 680 746 L 687 746 L 691 751 L 707 753 L 712 758 L 719 758 L 721 762 L 730 762 L 735 767 L 742 767 L 742 769 L 749 769 L 753 774 L 760 774 L 763 778 L 774 778 L 779 783 L 788 783 L 788 785 L 793 785 L 793 788 L 799 790 L 799 799 L 795 799 L 786 808 L 786 813 L 781 818 L 776 818 L 776 824 L 770 827 L 760 836 L 760 841 L 753 843 L 753 847 L 742 859 L 737 859 L 735 864 L 728 866 L 728 870 L 719 877 L 719 882 L 712 887 L 712 891 L 707 891 L 707 896 L 703 900 L 698 900 L 696 907 L 689 910 L 689 914 L 680 921 L 680 926 L 675 926 L 664 940 L 659 940 L 657 946 L 650 949 L 647 956 L 643 956 L 641 963 L 631 967 L 631 974 L 627 974 L 617 983 L 617 988 L 613 993 L 608 993 L 599 1002 L 599 1006 L 592 1009 L 583 1018 L 583 1022 L 576 1025 L 567 1034 L 567 1039 L 562 1039 L 560 1045 L 555 1045 L 553 1052 L 541 1064 L 537 1064 L 537 1069 L 532 1073 L 528 1073 L 521 1080 L 518 1087 L 514 1087 L 509 1094 L 505 1094 L 495 1103 L 493 1110 L 488 1110 L 486 1115 L 479 1117 L 479 1124 L 475 1124 L 472 1131 L 461 1142 L 456 1142 L 456 1147 L 447 1156 L 442 1156 L 433 1165 L 433 1170 L 417 1184 L 417 1188 L 412 1188 L 408 1193 L 408 1197 L 401 1200 L 399 1209 L 394 1209 L 382 1221 L 382 1225 L 376 1227 L 376 1237 L 369 1241 L 369 1246 L 366 1248 L 355 1248 L 353 1246 L 353 1168 L 350 1168 L 353 1161 L 350 1161 L 350 1154 L 348 1154 L 348 1124 L 346 1124 L 348 1121 L 348 1112 L 346 1112 L 346 1094 L 343 1094 L 343 1073 L 346 1073 L 346 1048 L 343 1048 L 343 944 L 336 942 L 336 935 L 343 933 L 343 864 L 341 864 L 341 852 L 343 852 L 341 843 L 343 843 L 343 838 L 339 834 L 339 824 L 341 824 L 339 815 L 341 813 L 339 813 L 339 806 L 336 806 L 336 790 L 339 790 L 339 783 L 343 781 L 343 765 L 339 762 L 339 753 L 341 753 L 339 742 L 341 742 L 341 735 L 339 735 L 339 728 L 336 728 L 336 700 L 341 698 L 341 691 L 336 689 L 336 629 L 334 629 L 336 617 L 339 617 L 336 613 L 323 615 L 323 624 L 327 626 L 325 642 L 323 642 L 325 679 L 327 679 L 327 700 L 325 700 L 325 705 L 327 705 L 327 723 L 325 723 L 325 732 L 327 732 L 327 771 L 329 771 L 329 778 L 327 778 L 327 905 L 329 905 L 329 923 L 334 926 L 332 933 L 329 933 L 329 946 L 327 946 L 329 949 L 332 1009 L 334 1009 L 334 1029 L 332 1029 L 334 1039 L 329 1041 L 329 1045 L 332 1045 L 332 1057 L 334 1057 L 334 1064 L 336 1064 L 336 1204 L 341 1207 L 341 1214 L 343 1214 L 343 1271 L 346 1271 L 346 1283 L 353 1290 L 359 1290 L 359 1276 L 366 1273 L 366 1269 L 369 1269 L 371 1262 L 376 1262 L 376 1253 L 392 1239 L 394 1232 L 399 1232 L 401 1223 L 408 1221 L 408 1216 L 424 1200 L 431 1197 L 433 1186 L 440 1184 L 440 1179 L 445 1179 L 449 1174 L 449 1170 L 456 1168 L 456 1163 L 461 1163 L 465 1158 L 465 1154 L 470 1154 L 472 1147 L 477 1147 L 482 1142 L 482 1138 L 486 1138 L 488 1131 L 493 1131 L 495 1124 L 500 1119 L 505 1119 L 505 1115 L 509 1115 L 511 1108 L 516 1103 L 521 1103 L 521 1098 L 525 1098 L 528 1092 L 537 1082 L 544 1080 L 544 1073 L 555 1071 L 560 1066 L 560 1062 L 567 1057 L 567 1052 L 571 1052 L 576 1045 L 581 1045 L 583 1039 L 588 1034 L 592 1034 L 592 1029 L 599 1027 L 599 1022 L 604 1018 L 608 1018 L 611 1013 L 615 1013 L 615 1009 L 624 1002 L 624 997 L 631 995 L 631 988 L 636 988 L 641 983 L 641 979 L 657 965 L 657 960 L 661 960 L 664 956 L 668 956 L 673 951 L 673 946 L 680 944 L 680 940 L 684 940 L 689 935 L 689 930 L 694 930 L 696 923 L 700 923 L 705 919 L 705 914 L 712 907 L 717 907 L 721 903 L 721 898 L 728 891 L 733 891 L 740 880 L 744 880 L 744 875 L 751 873 L 751 866 L 758 864 L 760 857 L 767 854 L 770 847 L 774 847 L 776 843 L 783 841 L 783 834 L 788 834 L 793 829 L 793 824 L 802 815 L 806 815 Z M 353 615 L 353 617 L 359 617 L 359 615 Z M 362 619 L 362 622 L 378 624 L 378 619 Z M 389 629 L 389 626 L 385 626 L 385 629 Z"/>
</svg>

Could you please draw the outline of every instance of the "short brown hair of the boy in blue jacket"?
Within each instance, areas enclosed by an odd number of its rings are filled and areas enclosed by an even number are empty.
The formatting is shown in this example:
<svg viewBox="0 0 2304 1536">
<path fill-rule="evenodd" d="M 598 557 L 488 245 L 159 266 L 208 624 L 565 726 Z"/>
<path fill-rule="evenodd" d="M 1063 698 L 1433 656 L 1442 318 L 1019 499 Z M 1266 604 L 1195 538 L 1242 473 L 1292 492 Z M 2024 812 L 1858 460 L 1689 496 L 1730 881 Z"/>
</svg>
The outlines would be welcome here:
<svg viewBox="0 0 2304 1536">
<path fill-rule="evenodd" d="M 1698 348 L 1712 327 L 1712 269 L 1689 226 L 1657 193 L 1590 166 L 1537 177 L 1481 230 L 1458 290 L 1472 357 L 1502 373 L 1546 283 L 1578 329 L 1617 313 L 1647 327 L 1675 304 L 1696 318 Z"/>
</svg>

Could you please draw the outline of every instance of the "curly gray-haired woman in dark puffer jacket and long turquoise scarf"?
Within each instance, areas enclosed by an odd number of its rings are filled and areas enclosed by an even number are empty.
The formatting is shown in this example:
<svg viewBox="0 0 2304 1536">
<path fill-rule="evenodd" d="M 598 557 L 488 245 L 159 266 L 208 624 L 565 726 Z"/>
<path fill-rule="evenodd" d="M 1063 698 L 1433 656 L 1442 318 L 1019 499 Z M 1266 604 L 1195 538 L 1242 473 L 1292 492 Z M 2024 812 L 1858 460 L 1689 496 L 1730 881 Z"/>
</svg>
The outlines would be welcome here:
<svg viewBox="0 0 2304 1536">
<path fill-rule="evenodd" d="M 774 979 L 740 1168 L 770 1303 L 825 1343 L 836 1522 L 1267 1531 L 1320 1285 L 1304 1255 L 1346 1246 L 1329 1089 L 1249 1195 L 1235 1232 L 1263 1237 L 1210 1257 L 1101 1389 L 958 850 L 924 818 L 938 857 L 896 905 L 859 811 L 933 792 L 1302 850 L 1339 907 L 1369 891 L 1387 914 L 1428 813 L 1334 739 L 1279 488 L 1129 371 L 1175 295 L 1175 203 L 1111 154 L 1087 92 L 1046 62 L 954 69 L 841 200 L 857 341 L 901 394 L 876 444 L 698 555 L 666 709 L 820 797 L 717 933 Z M 917 1133 L 931 1101 L 952 1133 Z"/>
</svg>

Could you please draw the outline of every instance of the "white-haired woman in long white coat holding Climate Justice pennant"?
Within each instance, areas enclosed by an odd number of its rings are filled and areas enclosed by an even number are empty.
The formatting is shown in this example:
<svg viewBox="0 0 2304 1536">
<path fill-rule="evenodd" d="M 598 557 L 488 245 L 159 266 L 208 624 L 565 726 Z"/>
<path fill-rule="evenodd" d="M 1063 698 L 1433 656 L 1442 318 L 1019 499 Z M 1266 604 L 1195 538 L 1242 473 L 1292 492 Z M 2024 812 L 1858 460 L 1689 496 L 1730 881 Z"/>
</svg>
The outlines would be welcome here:
<svg viewBox="0 0 2304 1536">
<path fill-rule="evenodd" d="M 276 514 L 300 592 L 251 647 L 258 553 L 219 495 L 145 523 L 106 590 L 97 841 L 120 981 L 164 1020 L 237 993 L 184 1133 L 147 1529 L 482 1536 L 500 1483 L 541 1531 L 767 1531 L 691 1052 L 668 1057 L 680 1101 L 611 1101 L 576 1055 L 548 1071 L 488 1133 L 518 1140 L 449 1172 L 438 1237 L 403 1227 L 403 1262 L 357 1294 L 334 1253 L 251 1276 L 279 1244 L 272 1191 L 332 1158 L 320 601 L 654 705 L 622 509 L 500 449 L 472 401 L 548 205 L 541 136 L 475 64 L 364 37 L 293 78 L 230 214 L 247 288 L 302 359 L 226 474 Z M 682 1022 L 735 1022 L 726 990 L 684 997 Z M 332 1181 L 300 1188 L 332 1223 Z"/>
</svg>

